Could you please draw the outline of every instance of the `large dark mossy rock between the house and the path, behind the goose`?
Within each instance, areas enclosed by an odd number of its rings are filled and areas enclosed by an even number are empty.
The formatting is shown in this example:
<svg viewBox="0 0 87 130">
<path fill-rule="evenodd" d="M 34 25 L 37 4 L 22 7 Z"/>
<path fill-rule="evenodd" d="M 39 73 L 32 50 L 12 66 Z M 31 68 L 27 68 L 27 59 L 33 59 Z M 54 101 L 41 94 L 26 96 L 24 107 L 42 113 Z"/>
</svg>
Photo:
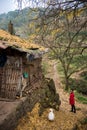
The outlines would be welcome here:
<svg viewBox="0 0 87 130">
<path fill-rule="evenodd" d="M 42 96 L 41 96 L 42 97 Z M 44 87 L 44 94 L 40 101 L 41 107 L 40 112 L 43 113 L 45 108 L 54 108 L 55 110 L 59 110 L 59 106 L 61 105 L 61 101 L 59 99 L 59 94 L 56 93 L 56 88 L 53 79 L 46 79 L 46 86 Z M 40 114 L 40 115 L 41 115 Z"/>
</svg>

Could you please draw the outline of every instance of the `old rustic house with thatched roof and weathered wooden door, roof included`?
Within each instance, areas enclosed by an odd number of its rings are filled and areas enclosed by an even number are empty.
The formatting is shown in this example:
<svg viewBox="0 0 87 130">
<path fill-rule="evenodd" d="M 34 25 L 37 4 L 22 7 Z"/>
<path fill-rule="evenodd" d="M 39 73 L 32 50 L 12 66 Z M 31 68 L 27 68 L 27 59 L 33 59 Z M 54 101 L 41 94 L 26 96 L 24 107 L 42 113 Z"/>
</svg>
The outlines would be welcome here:
<svg viewBox="0 0 87 130">
<path fill-rule="evenodd" d="M 44 52 L 42 46 L 0 30 L 1 98 L 16 99 L 38 87 L 37 82 L 43 77 L 41 61 Z"/>
</svg>

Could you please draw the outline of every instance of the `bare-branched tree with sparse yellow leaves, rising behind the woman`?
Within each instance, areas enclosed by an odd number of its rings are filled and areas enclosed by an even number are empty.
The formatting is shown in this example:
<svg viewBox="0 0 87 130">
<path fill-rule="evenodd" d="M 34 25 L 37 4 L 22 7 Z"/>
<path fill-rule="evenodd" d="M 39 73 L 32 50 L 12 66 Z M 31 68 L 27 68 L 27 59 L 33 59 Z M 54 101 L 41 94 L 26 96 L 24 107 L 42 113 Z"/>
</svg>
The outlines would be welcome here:
<svg viewBox="0 0 87 130">
<path fill-rule="evenodd" d="M 87 2 L 36 0 L 33 6 L 31 10 L 38 14 L 31 20 L 35 22 L 33 40 L 50 48 L 53 58 L 60 61 L 65 76 L 65 89 L 68 90 L 71 75 L 87 67 Z M 78 66 L 75 66 L 78 58 Z"/>
</svg>

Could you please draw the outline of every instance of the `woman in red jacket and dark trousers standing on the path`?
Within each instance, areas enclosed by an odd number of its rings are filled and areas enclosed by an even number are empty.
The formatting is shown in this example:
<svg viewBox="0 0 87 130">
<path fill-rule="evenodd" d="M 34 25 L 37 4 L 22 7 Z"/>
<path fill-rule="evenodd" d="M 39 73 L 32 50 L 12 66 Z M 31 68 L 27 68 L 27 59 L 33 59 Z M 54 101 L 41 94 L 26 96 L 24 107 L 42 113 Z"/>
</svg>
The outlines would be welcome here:
<svg viewBox="0 0 87 130">
<path fill-rule="evenodd" d="M 71 105 L 71 112 L 76 113 L 75 98 L 74 97 L 75 97 L 74 92 L 73 92 L 73 90 L 71 90 L 70 97 L 69 97 L 69 103 Z"/>
</svg>

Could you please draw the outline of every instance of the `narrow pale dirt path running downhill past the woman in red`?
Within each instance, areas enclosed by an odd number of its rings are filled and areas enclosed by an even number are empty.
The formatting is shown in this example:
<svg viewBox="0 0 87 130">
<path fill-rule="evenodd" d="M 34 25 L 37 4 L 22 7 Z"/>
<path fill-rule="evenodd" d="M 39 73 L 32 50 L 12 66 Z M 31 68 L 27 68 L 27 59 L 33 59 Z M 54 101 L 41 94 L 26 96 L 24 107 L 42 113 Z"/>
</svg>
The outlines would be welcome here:
<svg viewBox="0 0 87 130">
<path fill-rule="evenodd" d="M 60 99 L 61 99 L 61 109 L 63 111 L 70 111 L 70 105 L 69 105 L 69 94 L 66 93 L 63 89 L 62 89 L 62 84 L 61 84 L 61 80 L 59 78 L 58 72 L 57 72 L 57 68 L 56 68 L 56 64 L 53 64 L 53 79 L 55 82 L 55 86 L 56 86 L 56 90 L 60 95 Z M 86 104 L 81 104 L 78 103 L 76 101 L 76 107 L 80 109 L 80 112 L 82 112 L 83 114 L 87 115 L 87 105 Z"/>
</svg>

